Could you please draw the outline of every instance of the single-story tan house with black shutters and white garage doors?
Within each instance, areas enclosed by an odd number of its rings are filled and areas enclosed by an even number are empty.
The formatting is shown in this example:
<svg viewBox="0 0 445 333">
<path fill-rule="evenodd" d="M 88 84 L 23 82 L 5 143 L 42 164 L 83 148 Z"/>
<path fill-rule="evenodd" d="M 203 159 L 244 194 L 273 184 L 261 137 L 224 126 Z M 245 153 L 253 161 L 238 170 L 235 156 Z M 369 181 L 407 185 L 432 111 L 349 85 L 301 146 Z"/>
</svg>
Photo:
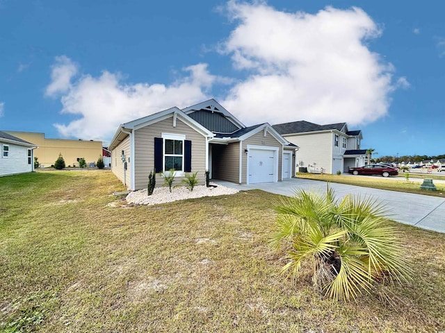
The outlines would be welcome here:
<svg viewBox="0 0 445 333">
<path fill-rule="evenodd" d="M 175 181 L 197 172 L 238 184 L 278 182 L 295 174 L 298 146 L 268 123 L 244 126 L 214 99 L 122 123 L 108 146 L 111 171 L 130 190 L 150 171 L 175 169 Z"/>
</svg>

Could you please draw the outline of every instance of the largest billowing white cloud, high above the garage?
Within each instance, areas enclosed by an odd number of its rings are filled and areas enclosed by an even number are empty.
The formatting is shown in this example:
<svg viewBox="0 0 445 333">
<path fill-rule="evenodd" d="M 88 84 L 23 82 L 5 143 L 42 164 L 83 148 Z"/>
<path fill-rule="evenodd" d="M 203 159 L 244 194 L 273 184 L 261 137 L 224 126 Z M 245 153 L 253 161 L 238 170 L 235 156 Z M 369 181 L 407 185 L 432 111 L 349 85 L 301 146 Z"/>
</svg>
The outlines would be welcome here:
<svg viewBox="0 0 445 333">
<path fill-rule="evenodd" d="M 248 78 L 222 102 L 245 123 L 355 126 L 387 114 L 394 68 L 366 45 L 381 31 L 363 10 L 327 7 L 311 15 L 229 1 L 227 12 L 238 26 L 220 49 Z"/>
</svg>

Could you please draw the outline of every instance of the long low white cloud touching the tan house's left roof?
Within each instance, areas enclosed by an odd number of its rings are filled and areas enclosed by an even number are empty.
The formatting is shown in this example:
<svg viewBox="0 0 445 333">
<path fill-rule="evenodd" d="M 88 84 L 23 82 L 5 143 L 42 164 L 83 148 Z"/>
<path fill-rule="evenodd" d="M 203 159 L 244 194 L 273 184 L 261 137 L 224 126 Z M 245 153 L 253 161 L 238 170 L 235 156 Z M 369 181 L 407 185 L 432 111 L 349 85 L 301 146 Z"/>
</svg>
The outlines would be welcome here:
<svg viewBox="0 0 445 333">
<path fill-rule="evenodd" d="M 78 119 L 54 126 L 63 137 L 101 139 L 113 137 L 120 123 L 178 106 L 184 108 L 209 98 L 208 89 L 224 81 L 207 71 L 207 64 L 184 68 L 187 73 L 171 85 L 122 83 L 120 74 L 104 71 L 101 76 L 83 76 L 62 97 L 62 113 Z"/>
</svg>

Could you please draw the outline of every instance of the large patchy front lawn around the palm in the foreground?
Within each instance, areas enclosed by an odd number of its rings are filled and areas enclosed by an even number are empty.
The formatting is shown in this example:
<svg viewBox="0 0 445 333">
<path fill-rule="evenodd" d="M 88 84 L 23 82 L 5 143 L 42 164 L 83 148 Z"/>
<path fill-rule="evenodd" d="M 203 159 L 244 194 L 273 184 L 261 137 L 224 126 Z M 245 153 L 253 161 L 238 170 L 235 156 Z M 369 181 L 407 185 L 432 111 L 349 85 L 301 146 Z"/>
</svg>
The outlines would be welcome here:
<svg viewBox="0 0 445 333">
<path fill-rule="evenodd" d="M 280 275 L 266 246 L 273 194 L 127 207 L 109 171 L 9 176 L 0 189 L 2 332 L 445 330 L 445 234 L 394 223 L 412 282 L 338 303 L 310 272 Z"/>
</svg>

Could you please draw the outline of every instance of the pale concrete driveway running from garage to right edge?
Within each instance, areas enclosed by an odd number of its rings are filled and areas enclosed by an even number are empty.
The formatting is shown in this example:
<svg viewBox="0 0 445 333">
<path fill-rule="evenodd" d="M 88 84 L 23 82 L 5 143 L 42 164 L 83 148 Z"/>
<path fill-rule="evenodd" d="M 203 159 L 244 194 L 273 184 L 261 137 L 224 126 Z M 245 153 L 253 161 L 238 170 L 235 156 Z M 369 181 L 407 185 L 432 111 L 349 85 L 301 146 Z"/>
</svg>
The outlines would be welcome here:
<svg viewBox="0 0 445 333">
<path fill-rule="evenodd" d="M 324 193 L 326 191 L 326 182 L 318 180 L 307 180 L 301 178 L 291 178 L 282 182 L 268 182 L 253 185 L 236 185 L 232 182 L 222 180 L 214 181 L 217 184 L 226 187 L 232 187 L 238 190 L 261 189 L 274 194 L 292 196 L 296 189 L 305 189 L 307 191 L 316 191 Z M 331 182 L 329 185 L 334 189 L 338 198 L 343 198 L 347 194 L 371 196 L 375 200 L 381 201 L 389 210 L 394 221 L 405 224 L 415 225 L 416 227 L 445 232 L 445 199 L 437 196 L 423 196 L 421 194 L 411 194 L 396 191 L 387 191 L 385 189 L 371 189 L 369 187 L 359 187 L 353 185 L 336 184 Z"/>
</svg>

